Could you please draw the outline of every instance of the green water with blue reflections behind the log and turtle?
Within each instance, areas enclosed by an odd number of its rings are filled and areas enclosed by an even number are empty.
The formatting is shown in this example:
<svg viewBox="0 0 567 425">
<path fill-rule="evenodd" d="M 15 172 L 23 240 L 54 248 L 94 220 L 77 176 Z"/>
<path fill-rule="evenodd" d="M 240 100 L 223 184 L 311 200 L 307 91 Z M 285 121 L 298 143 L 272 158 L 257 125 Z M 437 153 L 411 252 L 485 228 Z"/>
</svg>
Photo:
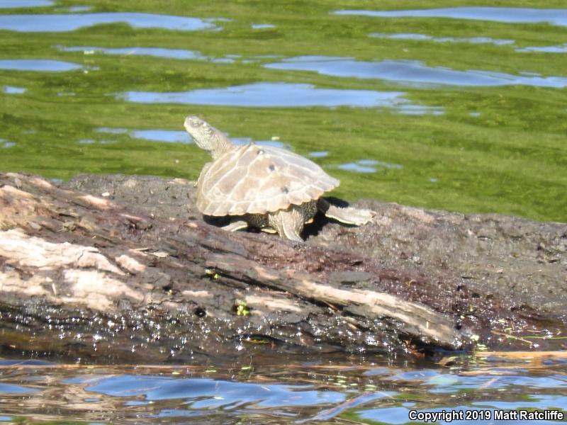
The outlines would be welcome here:
<svg viewBox="0 0 567 425">
<path fill-rule="evenodd" d="M 0 137 L 17 143 L 0 169 L 196 179 L 206 153 L 181 133 L 197 114 L 237 139 L 330 152 L 313 158 L 341 180 L 335 196 L 567 220 L 563 9 L 455 0 L 361 12 L 374 19 L 319 1 L 262 13 L 179 0 L 0 4 Z M 170 158 L 179 164 L 154 165 Z"/>
</svg>

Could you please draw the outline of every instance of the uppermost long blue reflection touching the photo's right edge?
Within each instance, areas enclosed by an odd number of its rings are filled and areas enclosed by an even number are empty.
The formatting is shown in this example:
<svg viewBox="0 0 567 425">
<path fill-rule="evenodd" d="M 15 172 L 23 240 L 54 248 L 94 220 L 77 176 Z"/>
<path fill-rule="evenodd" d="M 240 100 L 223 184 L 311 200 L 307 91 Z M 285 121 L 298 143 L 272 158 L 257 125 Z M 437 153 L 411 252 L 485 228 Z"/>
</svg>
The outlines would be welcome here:
<svg viewBox="0 0 567 425">
<path fill-rule="evenodd" d="M 340 10 L 332 13 L 376 18 L 454 18 L 506 23 L 547 22 L 556 26 L 567 26 L 567 9 L 565 8 L 452 7 L 403 11 Z"/>
</svg>

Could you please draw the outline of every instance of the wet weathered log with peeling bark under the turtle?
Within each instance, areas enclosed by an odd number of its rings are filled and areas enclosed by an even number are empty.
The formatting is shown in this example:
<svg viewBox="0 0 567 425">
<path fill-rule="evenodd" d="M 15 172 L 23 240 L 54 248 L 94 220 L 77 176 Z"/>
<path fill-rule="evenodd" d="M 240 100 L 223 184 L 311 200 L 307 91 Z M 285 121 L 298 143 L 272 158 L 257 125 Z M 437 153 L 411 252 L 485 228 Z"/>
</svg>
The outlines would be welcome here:
<svg viewBox="0 0 567 425">
<path fill-rule="evenodd" d="M 566 225 L 368 201 L 373 223 L 318 217 L 297 244 L 213 227 L 194 196 L 181 179 L 0 174 L 0 354 L 400 353 L 565 328 Z M 545 290 L 528 296 L 534 267 Z"/>
</svg>

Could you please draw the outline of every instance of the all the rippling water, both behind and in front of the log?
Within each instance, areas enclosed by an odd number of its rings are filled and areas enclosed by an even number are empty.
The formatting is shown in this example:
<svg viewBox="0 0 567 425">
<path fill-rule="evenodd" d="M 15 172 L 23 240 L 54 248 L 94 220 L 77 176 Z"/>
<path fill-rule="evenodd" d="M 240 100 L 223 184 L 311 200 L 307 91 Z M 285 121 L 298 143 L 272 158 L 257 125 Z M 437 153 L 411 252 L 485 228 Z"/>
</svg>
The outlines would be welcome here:
<svg viewBox="0 0 567 425">
<path fill-rule="evenodd" d="M 0 171 L 196 179 L 209 160 L 184 132 L 196 114 L 236 143 L 310 157 L 341 180 L 331 196 L 567 222 L 566 9 L 383 6 L 0 0 Z M 412 410 L 567 408 L 564 361 L 71 362 L 0 361 L 0 421 L 405 424 Z"/>
</svg>

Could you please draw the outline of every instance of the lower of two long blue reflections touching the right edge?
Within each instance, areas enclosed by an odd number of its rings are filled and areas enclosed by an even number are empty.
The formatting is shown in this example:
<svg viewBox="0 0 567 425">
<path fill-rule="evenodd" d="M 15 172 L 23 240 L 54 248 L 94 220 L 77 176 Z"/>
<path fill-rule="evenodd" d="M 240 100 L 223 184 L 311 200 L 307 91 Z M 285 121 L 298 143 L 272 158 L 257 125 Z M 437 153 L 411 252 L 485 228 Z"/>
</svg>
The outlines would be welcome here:
<svg viewBox="0 0 567 425">
<path fill-rule="evenodd" d="M 335 77 L 357 77 L 364 79 L 386 79 L 400 84 L 447 84 L 454 86 L 508 86 L 526 85 L 563 88 L 567 86 L 566 77 L 528 77 L 480 70 L 455 71 L 445 67 L 427 67 L 417 60 L 382 60 L 364 62 L 349 57 L 316 56 L 292 57 L 283 62 L 265 64 L 272 69 L 291 69 L 294 71 L 315 71 Z"/>
</svg>

